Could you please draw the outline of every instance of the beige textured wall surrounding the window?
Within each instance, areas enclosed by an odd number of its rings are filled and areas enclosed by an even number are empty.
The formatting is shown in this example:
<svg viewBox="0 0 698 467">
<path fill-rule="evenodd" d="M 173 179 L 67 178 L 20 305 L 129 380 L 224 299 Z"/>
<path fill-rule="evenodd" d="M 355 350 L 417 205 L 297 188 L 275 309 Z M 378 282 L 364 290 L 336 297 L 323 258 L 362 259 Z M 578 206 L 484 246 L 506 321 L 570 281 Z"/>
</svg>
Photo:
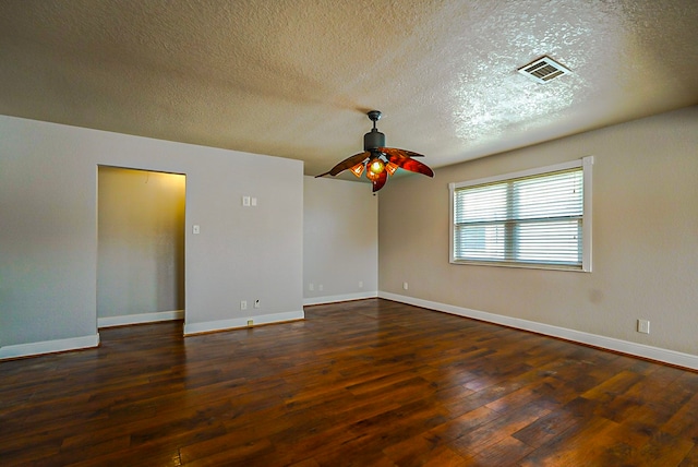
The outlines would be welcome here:
<svg viewBox="0 0 698 467">
<path fill-rule="evenodd" d="M 591 273 L 449 264 L 449 182 L 583 156 Z M 378 239 L 381 291 L 698 355 L 698 106 L 393 180 Z"/>
</svg>

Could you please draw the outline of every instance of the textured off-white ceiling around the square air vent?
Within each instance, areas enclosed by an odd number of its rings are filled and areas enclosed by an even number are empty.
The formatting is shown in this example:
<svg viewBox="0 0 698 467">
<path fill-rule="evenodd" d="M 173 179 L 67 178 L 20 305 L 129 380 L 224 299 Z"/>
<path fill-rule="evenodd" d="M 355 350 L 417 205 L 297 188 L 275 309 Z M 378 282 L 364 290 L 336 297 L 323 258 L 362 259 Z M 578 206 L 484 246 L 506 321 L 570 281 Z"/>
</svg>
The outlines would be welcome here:
<svg viewBox="0 0 698 467">
<path fill-rule="evenodd" d="M 0 113 L 442 167 L 698 104 L 696 0 L 2 0 Z M 550 56 L 547 84 L 517 73 Z"/>
</svg>

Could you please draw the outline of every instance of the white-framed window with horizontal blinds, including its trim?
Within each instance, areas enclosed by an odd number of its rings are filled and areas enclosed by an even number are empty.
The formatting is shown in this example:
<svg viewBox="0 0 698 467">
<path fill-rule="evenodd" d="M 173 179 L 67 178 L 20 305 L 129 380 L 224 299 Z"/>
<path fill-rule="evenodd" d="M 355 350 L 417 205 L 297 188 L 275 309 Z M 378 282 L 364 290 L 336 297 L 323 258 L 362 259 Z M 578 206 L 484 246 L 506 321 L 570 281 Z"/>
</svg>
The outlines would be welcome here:
<svg viewBox="0 0 698 467">
<path fill-rule="evenodd" d="M 450 183 L 450 262 L 591 271 L 592 164 Z"/>
</svg>

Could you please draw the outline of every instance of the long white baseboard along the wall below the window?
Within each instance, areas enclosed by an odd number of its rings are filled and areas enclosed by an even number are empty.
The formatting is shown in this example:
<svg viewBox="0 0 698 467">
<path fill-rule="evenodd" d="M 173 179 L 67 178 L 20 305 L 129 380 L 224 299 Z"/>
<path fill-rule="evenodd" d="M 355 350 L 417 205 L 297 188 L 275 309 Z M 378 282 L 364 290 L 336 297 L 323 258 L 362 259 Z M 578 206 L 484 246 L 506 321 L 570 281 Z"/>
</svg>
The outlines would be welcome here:
<svg viewBox="0 0 698 467">
<path fill-rule="evenodd" d="M 413 304 L 416 307 L 428 308 L 430 310 L 441 311 L 444 313 L 472 318 L 494 324 L 502 324 L 504 326 L 515 327 L 517 330 L 531 331 L 533 333 L 544 334 L 546 336 L 559 337 L 562 339 L 587 344 L 606 350 L 614 350 L 622 354 L 661 361 L 664 363 L 675 364 L 677 367 L 698 370 L 698 356 L 690 354 L 683 354 L 675 350 L 630 343 L 627 340 L 615 339 L 613 337 L 600 336 L 598 334 L 583 333 L 581 331 L 568 330 L 566 327 L 553 326 L 550 324 L 537 323 L 534 321 L 504 316 L 501 314 L 488 313 L 484 311 L 471 310 L 468 308 L 455 307 L 452 304 L 438 303 L 435 301 L 422 300 L 419 298 L 406 297 L 397 294 L 382 291 L 378 292 L 378 297 L 385 298 L 387 300 L 399 301 L 401 303 Z"/>
</svg>

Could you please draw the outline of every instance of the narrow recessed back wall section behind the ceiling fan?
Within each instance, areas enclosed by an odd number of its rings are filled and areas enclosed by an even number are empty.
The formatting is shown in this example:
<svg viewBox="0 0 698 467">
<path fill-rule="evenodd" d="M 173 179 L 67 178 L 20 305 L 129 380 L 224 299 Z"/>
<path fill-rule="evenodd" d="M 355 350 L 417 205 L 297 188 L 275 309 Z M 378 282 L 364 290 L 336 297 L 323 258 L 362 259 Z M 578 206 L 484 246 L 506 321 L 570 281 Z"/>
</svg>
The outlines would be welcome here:
<svg viewBox="0 0 698 467">
<path fill-rule="evenodd" d="M 376 297 L 378 196 L 371 184 L 305 177 L 303 204 L 304 303 Z"/>
</svg>

